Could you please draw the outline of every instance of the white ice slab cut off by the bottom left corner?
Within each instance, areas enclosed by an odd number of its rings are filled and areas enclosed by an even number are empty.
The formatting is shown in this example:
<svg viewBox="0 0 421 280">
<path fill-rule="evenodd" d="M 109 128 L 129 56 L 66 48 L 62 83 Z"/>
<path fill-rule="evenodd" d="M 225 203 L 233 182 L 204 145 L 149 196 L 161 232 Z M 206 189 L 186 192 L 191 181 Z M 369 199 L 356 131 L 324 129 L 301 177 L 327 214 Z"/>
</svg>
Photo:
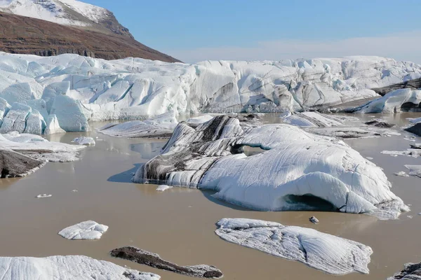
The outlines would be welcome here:
<svg viewBox="0 0 421 280">
<path fill-rule="evenodd" d="M 159 280 L 159 275 L 127 269 L 84 255 L 54 255 L 46 258 L 0 257 L 2 280 Z"/>
</svg>

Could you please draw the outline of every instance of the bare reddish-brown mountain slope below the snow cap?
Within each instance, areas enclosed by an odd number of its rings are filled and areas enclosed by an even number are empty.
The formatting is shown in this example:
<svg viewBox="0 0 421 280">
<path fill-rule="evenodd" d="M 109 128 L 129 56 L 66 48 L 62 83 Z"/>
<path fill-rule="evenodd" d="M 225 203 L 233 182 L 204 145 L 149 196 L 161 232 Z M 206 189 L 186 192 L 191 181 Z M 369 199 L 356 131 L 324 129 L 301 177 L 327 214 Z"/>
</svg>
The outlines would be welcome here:
<svg viewBox="0 0 421 280">
<path fill-rule="evenodd" d="M 103 59 L 141 57 L 178 62 L 127 34 L 69 27 L 0 12 L 0 51 L 41 56 L 75 53 Z"/>
</svg>

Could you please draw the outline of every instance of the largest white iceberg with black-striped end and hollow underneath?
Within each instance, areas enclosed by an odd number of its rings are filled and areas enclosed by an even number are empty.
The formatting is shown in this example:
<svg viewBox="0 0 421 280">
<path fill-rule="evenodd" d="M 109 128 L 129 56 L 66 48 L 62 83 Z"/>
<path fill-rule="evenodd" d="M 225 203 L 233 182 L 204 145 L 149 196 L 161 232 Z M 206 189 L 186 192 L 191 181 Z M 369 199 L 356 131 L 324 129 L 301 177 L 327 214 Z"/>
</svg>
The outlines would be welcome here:
<svg viewBox="0 0 421 280">
<path fill-rule="evenodd" d="M 246 156 L 243 146 L 265 151 Z M 241 127 L 228 116 L 195 128 L 180 123 L 133 182 L 215 190 L 221 200 L 260 211 L 323 209 L 381 218 L 408 211 L 382 169 L 343 141 L 286 124 Z"/>
</svg>

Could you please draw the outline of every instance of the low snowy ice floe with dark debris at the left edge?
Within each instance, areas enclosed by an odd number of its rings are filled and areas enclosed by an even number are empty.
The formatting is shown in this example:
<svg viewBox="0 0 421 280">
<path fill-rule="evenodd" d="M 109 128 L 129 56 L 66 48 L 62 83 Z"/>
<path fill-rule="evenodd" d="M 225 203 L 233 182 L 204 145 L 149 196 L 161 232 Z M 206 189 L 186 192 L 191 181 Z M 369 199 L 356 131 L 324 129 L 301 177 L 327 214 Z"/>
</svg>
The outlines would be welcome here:
<svg viewBox="0 0 421 280">
<path fill-rule="evenodd" d="M 38 135 L 18 132 L 0 134 L 0 146 L 48 162 L 72 162 L 83 149 L 83 146 L 50 142 Z"/>
</svg>

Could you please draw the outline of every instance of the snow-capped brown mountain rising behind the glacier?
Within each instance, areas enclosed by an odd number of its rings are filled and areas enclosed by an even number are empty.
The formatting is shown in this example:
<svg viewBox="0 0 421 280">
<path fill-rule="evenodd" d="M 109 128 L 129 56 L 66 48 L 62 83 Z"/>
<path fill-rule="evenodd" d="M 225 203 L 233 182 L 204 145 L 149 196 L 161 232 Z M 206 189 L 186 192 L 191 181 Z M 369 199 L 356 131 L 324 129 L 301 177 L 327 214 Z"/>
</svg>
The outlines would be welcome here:
<svg viewBox="0 0 421 280">
<path fill-rule="evenodd" d="M 177 59 L 135 41 L 105 8 L 76 0 L 0 0 L 0 51 L 103 59 Z"/>
</svg>

